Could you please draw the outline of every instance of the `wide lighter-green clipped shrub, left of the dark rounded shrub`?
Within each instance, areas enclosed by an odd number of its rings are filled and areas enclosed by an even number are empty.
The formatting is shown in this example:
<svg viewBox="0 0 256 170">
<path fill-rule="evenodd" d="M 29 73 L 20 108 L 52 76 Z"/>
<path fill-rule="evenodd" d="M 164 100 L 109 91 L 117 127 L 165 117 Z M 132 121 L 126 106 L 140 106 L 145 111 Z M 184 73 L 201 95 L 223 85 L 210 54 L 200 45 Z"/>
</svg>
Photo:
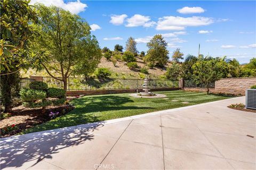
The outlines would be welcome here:
<svg viewBox="0 0 256 170">
<path fill-rule="evenodd" d="M 20 97 L 23 101 L 43 100 L 46 98 L 46 92 L 43 90 L 21 89 Z"/>
</svg>

